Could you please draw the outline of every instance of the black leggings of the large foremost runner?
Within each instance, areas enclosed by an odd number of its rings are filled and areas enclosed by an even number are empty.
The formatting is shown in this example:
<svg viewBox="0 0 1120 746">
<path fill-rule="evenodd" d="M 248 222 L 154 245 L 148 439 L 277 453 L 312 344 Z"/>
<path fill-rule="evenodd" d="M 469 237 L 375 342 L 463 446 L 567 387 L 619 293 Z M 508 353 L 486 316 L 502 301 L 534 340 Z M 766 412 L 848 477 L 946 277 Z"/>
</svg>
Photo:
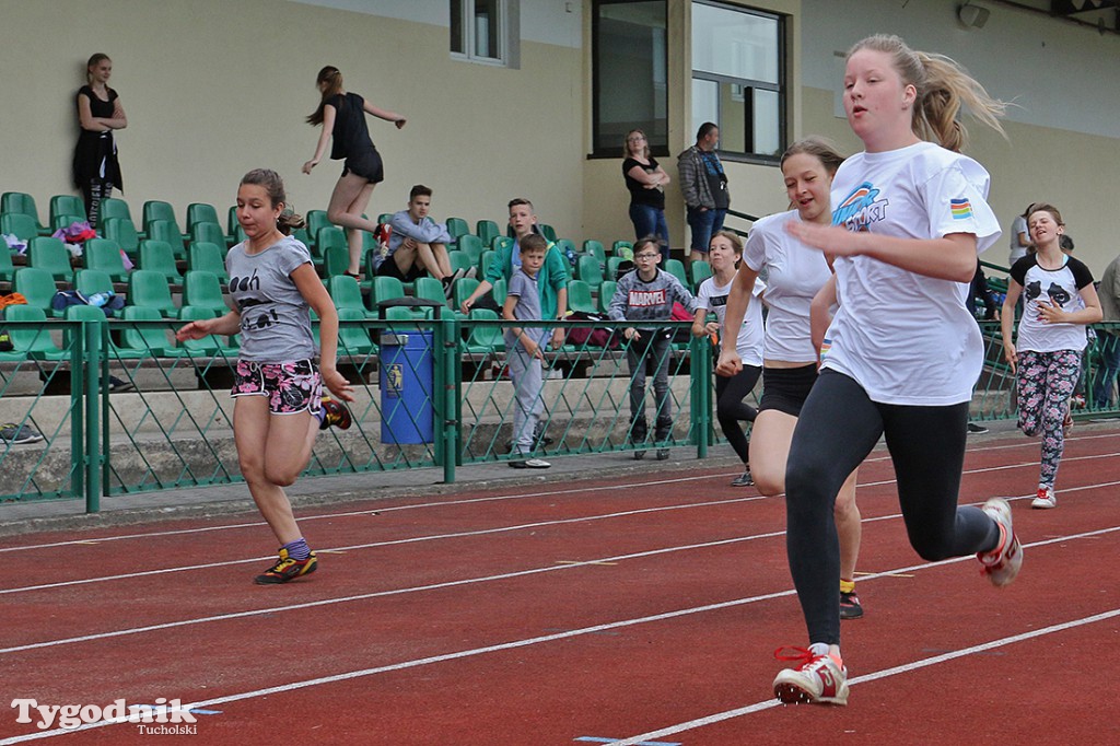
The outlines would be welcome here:
<svg viewBox="0 0 1120 746">
<path fill-rule="evenodd" d="M 832 509 L 848 475 L 885 435 L 911 545 L 923 559 L 991 551 L 998 524 L 958 507 L 969 403 L 872 402 L 851 377 L 825 370 L 801 410 L 786 461 L 786 551 L 810 643 L 840 644 L 840 542 Z"/>
</svg>

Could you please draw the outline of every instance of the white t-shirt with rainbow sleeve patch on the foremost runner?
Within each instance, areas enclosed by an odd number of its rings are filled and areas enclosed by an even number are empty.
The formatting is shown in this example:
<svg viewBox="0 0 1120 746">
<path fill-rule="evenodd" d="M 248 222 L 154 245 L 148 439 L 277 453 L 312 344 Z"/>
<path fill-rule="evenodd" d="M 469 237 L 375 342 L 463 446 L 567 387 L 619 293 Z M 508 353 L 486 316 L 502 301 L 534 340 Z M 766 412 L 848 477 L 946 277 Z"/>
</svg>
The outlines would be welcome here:
<svg viewBox="0 0 1120 746">
<path fill-rule="evenodd" d="M 999 239 L 988 171 L 932 142 L 861 152 L 832 181 L 832 223 L 905 239 L 951 233 Z M 833 262 L 840 309 L 825 335 L 823 366 L 853 377 L 871 401 L 944 407 L 969 401 L 983 363 L 968 282 L 937 280 L 870 257 Z"/>
</svg>

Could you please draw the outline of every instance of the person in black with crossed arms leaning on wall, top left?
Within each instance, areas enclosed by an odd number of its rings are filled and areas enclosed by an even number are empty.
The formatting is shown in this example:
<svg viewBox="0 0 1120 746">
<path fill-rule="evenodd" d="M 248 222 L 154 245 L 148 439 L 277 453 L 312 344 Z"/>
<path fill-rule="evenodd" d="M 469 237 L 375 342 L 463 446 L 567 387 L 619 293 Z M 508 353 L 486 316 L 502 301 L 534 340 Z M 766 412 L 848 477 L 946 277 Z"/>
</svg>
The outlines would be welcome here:
<svg viewBox="0 0 1120 746">
<path fill-rule="evenodd" d="M 93 226 L 97 224 L 101 201 L 112 195 L 113 187 L 123 192 L 113 130 L 123 130 L 129 120 L 116 91 L 106 85 L 112 72 L 109 55 L 93 55 L 85 66 L 86 84 L 77 92 L 82 130 L 74 148 L 74 187 L 85 197 L 85 214 Z"/>
</svg>

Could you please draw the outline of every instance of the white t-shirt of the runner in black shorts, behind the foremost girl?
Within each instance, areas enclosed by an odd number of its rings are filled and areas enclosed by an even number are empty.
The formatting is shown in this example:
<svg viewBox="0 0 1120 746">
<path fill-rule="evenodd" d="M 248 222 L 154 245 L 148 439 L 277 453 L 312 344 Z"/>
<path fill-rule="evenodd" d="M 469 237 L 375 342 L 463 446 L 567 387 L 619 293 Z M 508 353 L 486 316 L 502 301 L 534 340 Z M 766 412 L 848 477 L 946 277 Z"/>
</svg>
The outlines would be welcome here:
<svg viewBox="0 0 1120 746">
<path fill-rule="evenodd" d="M 755 223 L 743 250 L 743 261 L 755 272 L 767 271 L 763 299 L 769 313 L 764 357 L 815 363 L 809 306 L 832 271 L 823 252 L 804 245 L 785 230 L 786 223 L 796 220 L 801 220 L 797 211 L 791 209 Z"/>
</svg>

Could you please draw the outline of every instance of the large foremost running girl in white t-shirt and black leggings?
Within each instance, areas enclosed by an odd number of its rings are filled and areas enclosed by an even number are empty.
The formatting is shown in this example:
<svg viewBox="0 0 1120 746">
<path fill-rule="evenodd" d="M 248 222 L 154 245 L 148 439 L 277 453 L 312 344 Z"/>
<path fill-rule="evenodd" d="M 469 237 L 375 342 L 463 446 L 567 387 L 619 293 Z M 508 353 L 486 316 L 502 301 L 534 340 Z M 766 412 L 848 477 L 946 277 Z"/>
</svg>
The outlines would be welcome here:
<svg viewBox="0 0 1120 746">
<path fill-rule="evenodd" d="M 976 553 L 996 586 L 1011 582 L 1023 562 L 1006 501 L 956 504 L 983 363 L 964 291 L 977 253 L 1000 235 L 988 172 L 959 152 L 956 114 L 967 104 L 1002 131 L 1004 104 L 952 59 L 883 35 L 848 54 L 843 103 L 865 151 L 837 170 L 832 225 L 786 224 L 834 258 L 840 298 L 786 464 L 786 550 L 810 643 L 777 653 L 795 665 L 774 679 L 775 696 L 790 703 L 848 701 L 832 507 L 880 436 L 909 542 L 923 559 Z"/>
</svg>

